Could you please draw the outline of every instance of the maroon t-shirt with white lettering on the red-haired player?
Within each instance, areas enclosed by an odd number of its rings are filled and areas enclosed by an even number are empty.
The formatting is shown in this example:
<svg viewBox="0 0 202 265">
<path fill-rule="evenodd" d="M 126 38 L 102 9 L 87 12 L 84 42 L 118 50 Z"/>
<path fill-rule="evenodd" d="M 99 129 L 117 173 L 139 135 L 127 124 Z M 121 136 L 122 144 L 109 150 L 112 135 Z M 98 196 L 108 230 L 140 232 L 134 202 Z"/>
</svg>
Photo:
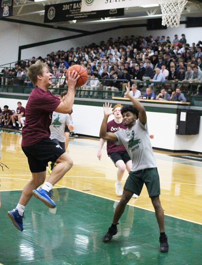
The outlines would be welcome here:
<svg viewBox="0 0 202 265">
<path fill-rule="evenodd" d="M 107 132 L 117 132 L 119 130 L 125 130 L 127 127 L 124 126 L 123 122 L 116 123 L 114 120 L 107 122 Z M 125 151 L 124 145 L 116 145 L 115 142 L 107 141 L 107 154 L 112 152 Z"/>
</svg>

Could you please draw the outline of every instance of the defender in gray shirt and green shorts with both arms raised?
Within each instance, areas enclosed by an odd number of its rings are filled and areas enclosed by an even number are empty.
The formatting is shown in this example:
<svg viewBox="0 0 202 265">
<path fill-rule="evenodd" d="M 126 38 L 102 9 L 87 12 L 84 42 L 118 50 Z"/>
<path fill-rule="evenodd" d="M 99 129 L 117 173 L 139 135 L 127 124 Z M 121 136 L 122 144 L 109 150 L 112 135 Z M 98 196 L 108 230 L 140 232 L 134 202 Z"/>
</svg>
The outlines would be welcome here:
<svg viewBox="0 0 202 265">
<path fill-rule="evenodd" d="M 159 251 L 167 252 L 169 249 L 167 236 L 164 228 L 164 211 L 159 199 L 160 181 L 157 171 L 156 160 L 149 140 L 147 129 L 147 115 L 144 106 L 132 95 L 130 95 L 128 83 L 125 95 L 131 100 L 134 106 L 123 107 L 121 114 L 123 123 L 127 126 L 126 130 L 119 132 L 107 132 L 107 120 L 111 115 L 111 105 L 104 105 L 104 119 L 100 128 L 100 137 L 105 140 L 115 141 L 117 145 L 123 144 L 132 159 L 132 169 L 124 185 L 124 191 L 120 202 L 115 209 L 112 225 L 105 234 L 103 241 L 109 242 L 112 236 L 117 234 L 117 224 L 124 212 L 125 206 L 132 197 L 133 193 L 140 195 L 145 184 L 151 202 L 154 206 L 156 219 L 160 230 Z"/>
</svg>

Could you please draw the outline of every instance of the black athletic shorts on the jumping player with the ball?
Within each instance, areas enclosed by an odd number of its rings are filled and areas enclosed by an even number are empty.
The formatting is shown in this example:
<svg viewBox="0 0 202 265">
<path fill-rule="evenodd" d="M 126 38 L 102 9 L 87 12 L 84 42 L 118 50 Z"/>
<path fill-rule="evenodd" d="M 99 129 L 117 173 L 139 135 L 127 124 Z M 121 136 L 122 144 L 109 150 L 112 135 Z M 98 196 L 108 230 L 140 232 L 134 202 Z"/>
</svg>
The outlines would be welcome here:
<svg viewBox="0 0 202 265">
<path fill-rule="evenodd" d="M 28 159 L 32 173 L 46 171 L 49 161 L 55 163 L 58 157 L 65 153 L 65 150 L 50 138 L 45 138 L 34 145 L 22 146 L 22 150 Z"/>
</svg>

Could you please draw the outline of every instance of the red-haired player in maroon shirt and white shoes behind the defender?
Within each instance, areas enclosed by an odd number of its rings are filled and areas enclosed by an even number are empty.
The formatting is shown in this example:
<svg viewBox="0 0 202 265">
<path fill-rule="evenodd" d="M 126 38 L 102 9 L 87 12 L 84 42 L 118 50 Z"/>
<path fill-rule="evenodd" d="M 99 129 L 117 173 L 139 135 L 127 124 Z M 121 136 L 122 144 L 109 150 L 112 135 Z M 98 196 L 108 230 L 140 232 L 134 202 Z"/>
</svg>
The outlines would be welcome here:
<svg viewBox="0 0 202 265">
<path fill-rule="evenodd" d="M 125 130 L 127 127 L 124 126 L 122 122 L 122 115 L 121 115 L 121 104 L 117 104 L 113 107 L 112 113 L 114 115 L 114 120 L 107 122 L 107 132 L 117 132 L 119 130 Z M 99 160 L 102 158 L 102 146 L 104 145 L 105 140 L 100 139 L 99 149 L 97 152 L 97 157 Z M 115 142 L 107 141 L 107 155 L 111 158 L 112 162 L 118 168 L 117 171 L 117 182 L 115 183 L 116 194 L 118 196 L 122 196 L 123 188 L 122 188 L 122 177 L 127 169 L 129 172 L 132 167 L 132 160 L 126 151 L 124 145 L 116 145 Z M 138 198 L 136 194 L 133 194 L 133 198 Z"/>
</svg>

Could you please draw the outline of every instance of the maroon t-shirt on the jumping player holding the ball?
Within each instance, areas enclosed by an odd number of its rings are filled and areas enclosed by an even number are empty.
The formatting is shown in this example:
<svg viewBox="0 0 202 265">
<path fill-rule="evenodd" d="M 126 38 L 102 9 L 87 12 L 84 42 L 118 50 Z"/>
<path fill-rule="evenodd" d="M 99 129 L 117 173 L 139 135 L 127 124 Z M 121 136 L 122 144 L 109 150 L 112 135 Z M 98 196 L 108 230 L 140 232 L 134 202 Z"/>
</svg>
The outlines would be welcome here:
<svg viewBox="0 0 202 265">
<path fill-rule="evenodd" d="M 22 130 L 22 146 L 30 146 L 50 137 L 49 126 L 53 111 L 60 104 L 60 99 L 40 87 L 35 87 L 26 105 L 25 126 Z"/>
</svg>

